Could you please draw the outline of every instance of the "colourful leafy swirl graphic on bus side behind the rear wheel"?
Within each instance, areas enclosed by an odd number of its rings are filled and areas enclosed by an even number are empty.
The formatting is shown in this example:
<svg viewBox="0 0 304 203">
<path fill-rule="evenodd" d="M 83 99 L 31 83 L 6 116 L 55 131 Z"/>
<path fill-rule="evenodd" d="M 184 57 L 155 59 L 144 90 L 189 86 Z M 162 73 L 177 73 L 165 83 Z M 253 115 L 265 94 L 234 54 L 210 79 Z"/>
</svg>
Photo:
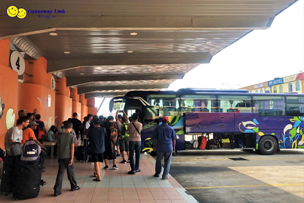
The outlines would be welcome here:
<svg viewBox="0 0 304 203">
<path fill-rule="evenodd" d="M 286 148 L 304 148 L 304 119 L 302 116 L 295 116 L 289 119 L 293 124 L 287 124 L 282 133 L 281 147 Z"/>
</svg>

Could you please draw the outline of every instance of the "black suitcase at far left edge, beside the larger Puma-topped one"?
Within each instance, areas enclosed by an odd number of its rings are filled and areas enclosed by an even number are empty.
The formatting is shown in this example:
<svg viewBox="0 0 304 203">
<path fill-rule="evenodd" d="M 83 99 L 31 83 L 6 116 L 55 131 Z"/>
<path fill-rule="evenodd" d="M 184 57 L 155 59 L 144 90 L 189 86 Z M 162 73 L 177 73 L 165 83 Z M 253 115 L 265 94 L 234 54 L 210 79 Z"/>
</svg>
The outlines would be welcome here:
<svg viewBox="0 0 304 203">
<path fill-rule="evenodd" d="M 0 190 L 1 190 L 1 194 L 2 192 L 6 193 L 5 196 L 7 196 L 10 192 L 13 191 L 15 164 L 16 164 L 16 156 L 4 157 Z"/>
</svg>

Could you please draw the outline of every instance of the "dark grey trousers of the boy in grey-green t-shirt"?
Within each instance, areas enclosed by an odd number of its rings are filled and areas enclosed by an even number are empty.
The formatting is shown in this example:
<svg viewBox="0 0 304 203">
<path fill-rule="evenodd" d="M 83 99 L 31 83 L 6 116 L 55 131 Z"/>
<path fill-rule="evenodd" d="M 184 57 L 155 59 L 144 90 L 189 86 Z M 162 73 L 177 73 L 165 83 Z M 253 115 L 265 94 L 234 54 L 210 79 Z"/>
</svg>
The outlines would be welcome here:
<svg viewBox="0 0 304 203">
<path fill-rule="evenodd" d="M 74 160 L 71 166 L 69 166 L 70 158 L 67 159 L 59 159 L 59 169 L 57 173 L 56 183 L 54 185 L 54 193 L 61 192 L 62 188 L 62 179 L 64 176 L 64 171 L 67 169 L 67 178 L 70 181 L 71 189 L 75 189 L 77 187 L 77 182 L 75 180 L 74 174 Z"/>
</svg>

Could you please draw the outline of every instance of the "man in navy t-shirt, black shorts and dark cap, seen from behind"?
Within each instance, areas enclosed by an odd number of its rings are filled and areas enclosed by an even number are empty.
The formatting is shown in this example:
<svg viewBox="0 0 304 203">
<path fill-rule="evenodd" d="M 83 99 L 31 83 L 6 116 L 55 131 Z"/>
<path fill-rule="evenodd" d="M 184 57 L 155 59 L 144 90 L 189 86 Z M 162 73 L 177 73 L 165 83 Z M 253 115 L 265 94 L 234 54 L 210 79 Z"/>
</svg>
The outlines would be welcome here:
<svg viewBox="0 0 304 203">
<path fill-rule="evenodd" d="M 87 140 L 90 141 L 89 153 L 92 157 L 92 162 L 95 166 L 94 177 L 95 181 L 100 181 L 99 170 L 103 162 L 103 152 L 105 152 L 105 128 L 100 127 L 101 121 L 99 118 L 93 120 L 94 128 L 91 128 L 87 134 Z"/>
</svg>

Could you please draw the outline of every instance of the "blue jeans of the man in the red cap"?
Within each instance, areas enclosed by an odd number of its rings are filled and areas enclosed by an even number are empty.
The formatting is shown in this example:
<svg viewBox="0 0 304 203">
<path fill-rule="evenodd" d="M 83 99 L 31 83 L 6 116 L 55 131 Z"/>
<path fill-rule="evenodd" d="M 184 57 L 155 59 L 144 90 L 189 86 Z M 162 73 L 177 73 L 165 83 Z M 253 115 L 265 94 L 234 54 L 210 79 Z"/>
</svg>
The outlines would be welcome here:
<svg viewBox="0 0 304 203">
<path fill-rule="evenodd" d="M 164 157 L 164 172 L 163 172 L 163 179 L 168 177 L 169 170 L 170 170 L 170 164 L 171 164 L 171 158 L 172 158 L 172 152 L 158 152 L 156 151 L 156 164 L 155 164 L 155 174 L 160 176 L 161 175 L 161 161 Z"/>
</svg>

